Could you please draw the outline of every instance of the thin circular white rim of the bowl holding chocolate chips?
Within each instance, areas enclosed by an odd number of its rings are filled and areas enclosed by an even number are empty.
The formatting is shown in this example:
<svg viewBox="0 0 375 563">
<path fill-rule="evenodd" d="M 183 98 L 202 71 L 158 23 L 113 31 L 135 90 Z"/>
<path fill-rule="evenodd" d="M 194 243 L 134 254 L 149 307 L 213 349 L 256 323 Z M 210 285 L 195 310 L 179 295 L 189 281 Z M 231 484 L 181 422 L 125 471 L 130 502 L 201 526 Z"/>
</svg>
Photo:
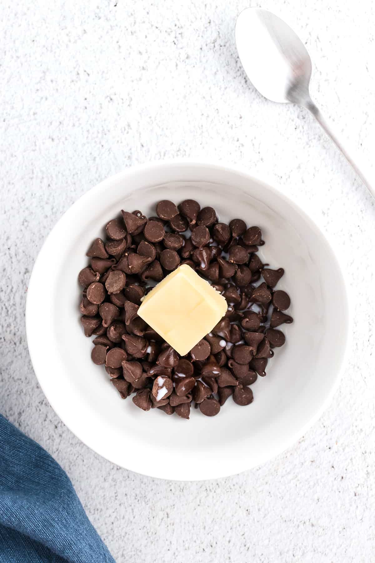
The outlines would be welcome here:
<svg viewBox="0 0 375 563">
<path fill-rule="evenodd" d="M 39 264 L 42 263 L 42 261 L 43 261 L 44 249 L 47 247 L 49 240 L 53 237 L 53 234 L 55 233 L 57 225 L 60 224 L 60 222 L 63 219 L 66 220 L 66 218 L 69 217 L 69 215 L 71 213 L 73 213 L 73 211 L 76 209 L 76 207 L 84 205 L 86 200 L 91 199 L 93 196 L 95 196 L 97 193 L 100 193 L 103 189 L 110 186 L 115 181 L 126 180 L 126 177 L 128 177 L 128 176 L 132 176 L 134 174 L 146 173 L 147 171 L 150 172 L 153 169 L 157 169 L 157 168 L 168 168 L 168 167 L 170 167 L 171 169 L 174 169 L 174 168 L 177 169 L 179 166 L 186 166 L 186 165 L 190 165 L 190 166 L 192 166 L 192 168 L 200 168 L 200 167 L 206 167 L 207 168 L 207 167 L 209 167 L 209 168 L 216 169 L 218 171 L 225 171 L 225 172 L 229 172 L 229 173 L 234 173 L 234 174 L 246 176 L 247 178 L 249 178 L 250 181 L 254 181 L 259 185 L 263 185 L 271 193 L 277 194 L 288 205 L 290 205 L 295 211 L 297 211 L 302 216 L 304 221 L 310 227 L 317 230 L 320 233 L 320 235 L 322 235 L 323 239 L 328 244 L 329 249 L 331 249 L 332 257 L 336 261 L 337 270 L 338 270 L 338 272 L 340 272 L 340 276 L 341 276 L 342 289 L 343 289 L 343 294 L 345 296 L 345 303 L 342 303 L 342 306 L 345 307 L 345 312 L 346 312 L 346 315 L 345 315 L 346 316 L 346 331 L 345 331 L 345 338 L 344 338 L 344 341 L 343 341 L 343 351 L 342 351 L 340 363 L 338 364 L 337 369 L 336 369 L 335 381 L 332 383 L 331 388 L 327 391 L 326 397 L 324 397 L 324 400 L 322 400 L 322 403 L 320 404 L 319 409 L 317 409 L 317 411 L 314 413 L 314 415 L 312 415 L 310 417 L 310 419 L 308 421 L 306 421 L 306 423 L 302 427 L 297 428 L 297 430 L 295 432 L 289 434 L 286 438 L 284 438 L 284 440 L 280 441 L 280 443 L 278 444 L 277 447 L 274 447 L 272 449 L 265 449 L 265 453 L 260 456 L 260 458 L 257 460 L 257 462 L 255 464 L 251 465 L 251 464 L 245 462 L 245 463 L 242 464 L 241 467 L 238 468 L 238 471 L 236 471 L 236 472 L 233 472 L 233 471 L 228 472 L 227 470 L 223 471 L 222 468 L 218 467 L 218 468 L 216 468 L 214 475 L 212 475 L 210 477 L 207 477 L 207 476 L 197 477 L 197 478 L 194 478 L 194 479 L 181 478 L 181 477 L 176 478 L 176 477 L 169 476 L 169 475 L 164 476 L 164 475 L 161 475 L 160 471 L 153 470 L 153 467 L 150 468 L 150 472 L 145 473 L 144 470 L 142 470 L 142 468 L 138 467 L 137 462 L 133 463 L 133 461 L 134 461 L 133 459 L 132 459 L 132 462 L 129 463 L 129 467 L 119 466 L 118 462 L 113 461 L 108 455 L 104 455 L 103 453 L 99 452 L 96 449 L 94 444 L 89 444 L 86 441 L 85 437 L 82 436 L 83 432 L 80 431 L 79 426 L 75 427 L 74 430 L 73 430 L 73 428 L 70 426 L 70 421 L 68 421 L 68 422 L 66 421 L 66 418 L 67 418 L 65 416 L 66 411 L 64 412 L 64 409 L 61 408 L 61 404 L 58 404 L 58 401 L 55 400 L 55 397 L 48 396 L 46 391 L 45 391 L 45 386 L 44 386 L 44 379 L 45 378 L 44 378 L 44 376 L 40 375 L 40 373 L 41 373 L 40 362 L 37 359 L 37 352 L 35 351 L 34 340 L 33 340 L 33 318 L 32 318 L 32 315 L 30 314 L 30 310 L 33 307 L 33 293 L 34 293 L 33 288 L 34 288 L 34 284 L 35 284 L 34 280 L 37 278 L 37 275 L 38 275 Z M 173 180 L 170 180 L 170 181 L 173 181 Z M 157 478 L 157 479 L 168 479 L 168 480 L 176 480 L 176 481 L 200 481 L 200 480 L 205 480 L 205 479 L 220 479 L 220 478 L 223 478 L 223 477 L 226 477 L 226 476 L 229 476 L 229 475 L 238 474 L 238 473 L 241 473 L 243 471 L 247 471 L 252 467 L 259 467 L 261 464 L 275 458 L 277 455 L 284 452 L 284 450 L 286 450 L 287 448 L 290 448 L 293 444 L 295 444 L 305 434 L 306 431 L 309 430 L 309 428 L 311 428 L 311 426 L 314 425 L 315 422 L 317 422 L 317 420 L 320 418 L 320 416 L 323 414 L 323 412 L 327 409 L 327 407 L 331 403 L 332 397 L 335 394 L 337 387 L 338 387 L 338 385 L 340 384 L 340 381 L 341 381 L 342 372 L 343 372 L 343 368 L 344 368 L 344 365 L 345 365 L 345 360 L 347 358 L 347 354 L 348 354 L 348 351 L 349 351 L 348 350 L 348 348 L 349 348 L 349 346 L 348 346 L 349 333 L 350 333 L 350 330 L 351 330 L 351 326 L 353 324 L 353 314 L 352 314 L 352 311 L 351 311 L 350 300 L 349 300 L 349 285 L 348 285 L 348 283 L 345 279 L 343 271 L 344 270 L 342 268 L 341 260 L 340 260 L 340 252 L 338 252 L 337 249 L 335 248 L 335 244 L 332 244 L 332 241 L 330 240 L 327 233 L 324 232 L 320 228 L 320 226 L 317 225 L 315 223 L 315 221 L 310 218 L 310 216 L 304 211 L 304 209 L 302 209 L 300 207 L 299 204 L 295 203 L 289 196 L 285 195 L 279 186 L 275 187 L 274 185 L 270 184 L 268 179 L 266 179 L 266 180 L 261 179 L 256 174 L 250 172 L 249 169 L 247 169 L 246 167 L 244 167 L 240 164 L 228 163 L 224 160 L 210 160 L 210 159 L 209 160 L 197 160 L 195 158 L 177 158 L 177 159 L 165 159 L 165 160 L 152 160 L 152 161 L 146 162 L 146 163 L 135 164 L 133 166 L 125 168 L 123 171 L 118 172 L 115 175 L 112 175 L 112 176 L 105 178 L 105 180 L 102 180 L 96 186 L 89 188 L 72 205 L 70 205 L 70 207 L 63 213 L 63 215 L 60 218 L 58 218 L 55 225 L 52 227 L 51 231 L 49 231 L 46 239 L 44 239 L 42 247 L 39 249 L 38 256 L 37 256 L 37 258 L 34 262 L 33 270 L 31 271 L 29 284 L 28 284 L 28 294 L 27 294 L 27 297 L 26 297 L 26 307 L 25 307 L 26 339 L 27 339 L 27 342 L 28 342 L 28 349 L 29 349 L 31 364 L 33 365 L 35 376 L 37 377 L 38 383 L 39 383 L 40 387 L 42 388 L 42 391 L 43 391 L 44 395 L 46 396 L 48 403 L 51 405 L 52 409 L 55 411 L 55 413 L 61 419 L 61 421 L 64 423 L 64 425 L 67 428 L 69 428 L 69 430 L 80 441 L 82 441 L 85 445 L 87 445 L 88 448 L 93 450 L 98 455 L 101 455 L 101 457 L 107 459 L 111 463 L 114 463 L 114 464 L 118 465 L 119 467 L 124 467 L 125 469 L 127 469 L 129 471 L 137 472 L 141 475 L 150 476 L 150 477 L 154 477 L 154 478 Z"/>
</svg>

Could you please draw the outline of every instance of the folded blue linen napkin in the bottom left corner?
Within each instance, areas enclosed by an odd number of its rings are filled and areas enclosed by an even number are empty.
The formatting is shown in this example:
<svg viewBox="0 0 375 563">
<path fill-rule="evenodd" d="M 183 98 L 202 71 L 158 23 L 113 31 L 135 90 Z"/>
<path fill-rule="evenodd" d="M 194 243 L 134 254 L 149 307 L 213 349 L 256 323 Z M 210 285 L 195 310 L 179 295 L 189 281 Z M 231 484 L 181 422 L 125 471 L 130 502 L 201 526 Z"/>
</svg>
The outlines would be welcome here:
<svg viewBox="0 0 375 563">
<path fill-rule="evenodd" d="M 0 414 L 0 563 L 114 563 L 66 473 Z"/>
</svg>

